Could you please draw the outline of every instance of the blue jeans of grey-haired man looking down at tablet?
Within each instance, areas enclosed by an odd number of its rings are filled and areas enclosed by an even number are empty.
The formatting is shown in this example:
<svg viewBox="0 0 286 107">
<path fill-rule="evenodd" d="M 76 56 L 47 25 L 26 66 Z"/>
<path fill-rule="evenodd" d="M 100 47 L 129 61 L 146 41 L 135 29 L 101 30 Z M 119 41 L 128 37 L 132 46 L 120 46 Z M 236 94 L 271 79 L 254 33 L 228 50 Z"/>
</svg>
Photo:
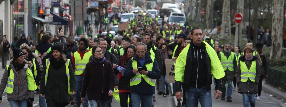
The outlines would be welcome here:
<svg viewBox="0 0 286 107">
<path fill-rule="evenodd" d="M 152 107 L 153 94 L 139 95 L 139 94 L 131 93 L 132 107 L 140 107 L 141 99 L 144 102 L 144 107 Z"/>
</svg>

